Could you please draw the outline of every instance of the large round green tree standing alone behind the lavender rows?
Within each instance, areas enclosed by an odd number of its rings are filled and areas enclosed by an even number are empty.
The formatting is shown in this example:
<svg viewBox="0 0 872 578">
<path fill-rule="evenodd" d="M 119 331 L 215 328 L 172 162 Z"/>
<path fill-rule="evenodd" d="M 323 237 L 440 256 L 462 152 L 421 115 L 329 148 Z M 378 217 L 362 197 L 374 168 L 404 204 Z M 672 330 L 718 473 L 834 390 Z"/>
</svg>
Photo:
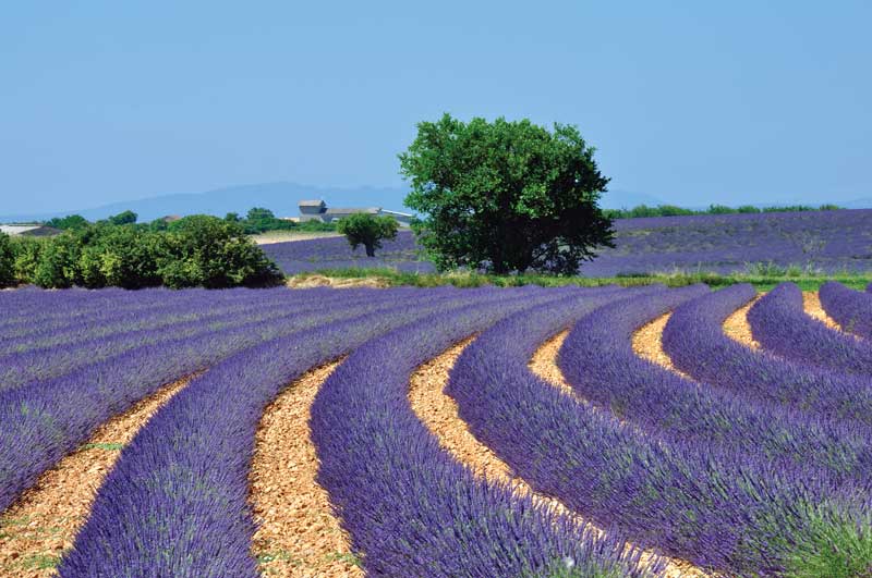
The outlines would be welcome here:
<svg viewBox="0 0 872 578">
<path fill-rule="evenodd" d="M 405 205 L 423 214 L 419 242 L 443 270 L 576 273 L 597 246 L 614 246 L 597 206 L 608 179 L 593 155 L 570 125 L 422 122 L 400 155 Z"/>
</svg>

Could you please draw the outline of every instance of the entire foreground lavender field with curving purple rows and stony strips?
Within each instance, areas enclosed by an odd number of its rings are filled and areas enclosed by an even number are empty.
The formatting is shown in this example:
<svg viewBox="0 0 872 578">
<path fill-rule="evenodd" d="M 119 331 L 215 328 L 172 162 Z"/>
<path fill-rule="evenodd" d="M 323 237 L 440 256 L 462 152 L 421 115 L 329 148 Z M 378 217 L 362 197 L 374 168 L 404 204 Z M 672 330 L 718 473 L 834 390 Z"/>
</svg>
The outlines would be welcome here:
<svg viewBox="0 0 872 578">
<path fill-rule="evenodd" d="M 865 577 L 871 297 L 3 292 L 0 576 Z"/>
</svg>

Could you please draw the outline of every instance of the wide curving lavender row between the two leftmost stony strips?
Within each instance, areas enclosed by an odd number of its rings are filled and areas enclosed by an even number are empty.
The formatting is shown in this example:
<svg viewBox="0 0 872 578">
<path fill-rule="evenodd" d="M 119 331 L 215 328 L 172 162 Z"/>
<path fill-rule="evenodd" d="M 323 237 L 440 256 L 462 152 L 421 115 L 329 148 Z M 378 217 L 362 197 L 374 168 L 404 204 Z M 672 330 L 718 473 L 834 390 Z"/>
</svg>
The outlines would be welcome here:
<svg viewBox="0 0 872 578">
<path fill-rule="evenodd" d="M 247 470 L 263 409 L 289 381 L 349 353 L 368 339 L 434 312 L 450 320 L 453 309 L 467 306 L 469 311 L 472 305 L 476 318 L 486 318 L 558 296 L 541 290 L 441 294 L 426 305 L 325 323 L 226 359 L 173 398 L 124 451 L 100 490 L 73 551 L 61 564 L 61 576 L 129 575 L 146 568 L 148 574 L 160 576 L 257 576 L 251 555 L 254 527 L 247 504 Z M 372 359 L 367 358 L 367 362 Z M 342 399 L 339 406 L 344 408 L 350 403 Z M 347 427 L 343 420 L 341 429 Z M 166 443 L 168 439 L 178 442 L 170 446 Z M 367 450 L 367 459 L 377 460 L 372 446 Z M 380 463 L 380 467 L 388 463 Z M 372 487 L 362 489 L 368 493 L 377 491 Z M 424 500 L 434 499 L 438 492 L 437 487 L 429 492 L 426 488 L 421 490 Z M 150 507 L 144 511 L 143 504 Z M 393 508 L 400 505 L 392 504 Z M 448 512 L 452 513 L 457 527 L 474 520 L 457 516 L 456 508 Z M 492 511 L 491 515 L 502 519 L 506 514 Z M 419 514 L 414 521 L 424 525 L 431 520 Z M 391 526 L 399 526 L 396 529 L 399 536 L 389 543 L 402 544 L 405 528 L 397 524 L 396 517 Z M 416 531 L 411 524 L 407 528 Z M 375 528 L 367 528 L 367 532 L 378 534 Z M 472 559 L 462 561 L 465 566 L 461 567 L 481 571 L 475 559 L 476 545 L 487 545 L 491 550 L 510 546 L 496 538 L 484 544 L 463 544 Z M 106 556 L 107 551 L 113 555 Z M 514 553 L 514 549 L 508 551 Z M 412 554 L 420 556 L 420 549 L 409 548 L 405 557 Z M 463 555 L 449 551 L 445 554 L 456 561 Z M 365 552 L 364 559 L 368 558 L 370 552 Z M 535 557 L 521 562 L 535 563 Z M 380 557 L 376 562 L 383 563 Z M 433 571 L 435 563 L 427 559 L 431 571 L 423 576 L 440 575 Z M 391 575 L 422 576 L 409 566 L 407 562 L 402 571 Z"/>
</svg>

